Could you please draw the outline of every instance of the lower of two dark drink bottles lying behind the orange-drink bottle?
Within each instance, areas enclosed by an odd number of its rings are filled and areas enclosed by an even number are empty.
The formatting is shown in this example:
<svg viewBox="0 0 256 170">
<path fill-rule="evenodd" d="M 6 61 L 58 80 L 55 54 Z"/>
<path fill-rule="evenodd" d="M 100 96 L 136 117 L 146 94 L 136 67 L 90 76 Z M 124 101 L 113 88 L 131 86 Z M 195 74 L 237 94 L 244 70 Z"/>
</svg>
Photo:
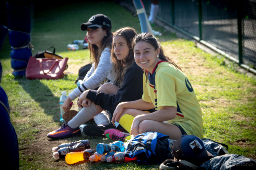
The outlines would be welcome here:
<svg viewBox="0 0 256 170">
<path fill-rule="evenodd" d="M 88 149 L 88 148 L 85 148 L 85 144 L 83 144 L 82 142 L 79 142 L 71 147 L 63 147 L 58 149 L 57 152 L 54 152 L 52 154 L 52 157 L 60 158 L 61 155 L 66 155 L 69 152 L 81 152 L 81 151 L 84 151 L 85 149 Z"/>
</svg>

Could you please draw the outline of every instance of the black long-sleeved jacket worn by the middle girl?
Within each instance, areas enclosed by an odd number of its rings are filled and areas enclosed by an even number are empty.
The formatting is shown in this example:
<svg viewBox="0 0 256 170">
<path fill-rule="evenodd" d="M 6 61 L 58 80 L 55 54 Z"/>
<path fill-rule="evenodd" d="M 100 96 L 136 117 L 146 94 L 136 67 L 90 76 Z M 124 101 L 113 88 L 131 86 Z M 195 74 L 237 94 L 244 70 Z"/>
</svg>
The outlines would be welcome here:
<svg viewBox="0 0 256 170">
<path fill-rule="evenodd" d="M 113 114 L 119 103 L 141 99 L 143 93 L 142 76 L 142 69 L 136 63 L 133 63 L 125 73 L 123 85 L 117 91 L 117 94 L 110 95 L 90 90 L 86 98 Z"/>
</svg>

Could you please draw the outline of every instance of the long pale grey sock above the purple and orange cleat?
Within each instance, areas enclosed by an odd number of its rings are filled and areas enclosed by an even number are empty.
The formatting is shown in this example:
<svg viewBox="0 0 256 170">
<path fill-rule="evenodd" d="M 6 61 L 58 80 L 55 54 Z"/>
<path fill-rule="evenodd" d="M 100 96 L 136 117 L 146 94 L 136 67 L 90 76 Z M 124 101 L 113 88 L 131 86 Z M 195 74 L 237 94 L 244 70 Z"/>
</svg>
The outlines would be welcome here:
<svg viewBox="0 0 256 170">
<path fill-rule="evenodd" d="M 91 104 L 90 106 L 83 107 L 73 119 L 68 122 L 68 126 L 72 129 L 79 127 L 81 124 L 89 121 L 98 114 L 96 107 Z"/>
</svg>

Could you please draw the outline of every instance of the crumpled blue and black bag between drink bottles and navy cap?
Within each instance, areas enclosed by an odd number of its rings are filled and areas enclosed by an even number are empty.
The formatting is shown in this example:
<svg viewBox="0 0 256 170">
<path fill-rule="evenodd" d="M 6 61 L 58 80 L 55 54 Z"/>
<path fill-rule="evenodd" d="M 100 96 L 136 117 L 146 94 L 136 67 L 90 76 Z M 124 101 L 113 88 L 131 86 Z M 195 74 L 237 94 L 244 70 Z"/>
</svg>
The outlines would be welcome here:
<svg viewBox="0 0 256 170">
<path fill-rule="evenodd" d="M 143 164 L 161 164 L 166 159 L 173 159 L 168 138 L 159 132 L 141 133 L 129 142 L 125 157 L 137 157 L 137 163 Z"/>
</svg>

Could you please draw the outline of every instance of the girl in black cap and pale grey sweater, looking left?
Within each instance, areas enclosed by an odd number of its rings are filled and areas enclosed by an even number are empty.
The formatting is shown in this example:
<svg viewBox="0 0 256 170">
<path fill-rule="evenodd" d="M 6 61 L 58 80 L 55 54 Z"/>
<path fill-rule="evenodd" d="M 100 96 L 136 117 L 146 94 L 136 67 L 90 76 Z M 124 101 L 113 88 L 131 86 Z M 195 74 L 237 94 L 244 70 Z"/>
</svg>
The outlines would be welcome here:
<svg viewBox="0 0 256 170">
<path fill-rule="evenodd" d="M 93 64 L 91 69 L 88 71 L 88 73 L 84 77 L 83 83 L 79 85 L 76 89 L 74 89 L 71 93 L 68 94 L 68 97 L 62 106 L 64 112 L 70 110 L 71 108 L 70 104 L 72 100 L 75 100 L 77 97 L 79 97 L 79 95 L 82 94 L 82 92 L 86 91 L 87 89 L 95 89 L 99 87 L 100 84 L 102 84 L 102 82 L 106 78 L 111 82 L 113 82 L 115 79 L 114 73 L 112 72 L 112 63 L 110 60 L 111 44 L 112 44 L 112 37 L 113 37 L 113 34 L 110 31 L 111 30 L 110 19 L 106 15 L 96 14 L 96 15 L 93 15 L 88 20 L 87 23 L 83 23 L 80 26 L 80 28 L 82 31 L 87 31 L 86 36 L 88 38 L 90 60 L 93 61 Z M 81 107 L 81 106 L 78 105 L 78 107 Z M 109 123 L 105 115 L 102 115 L 102 116 L 99 115 L 98 117 L 99 117 L 98 119 L 99 122 Z M 68 124 L 65 123 L 61 126 L 61 127 L 70 128 L 69 131 L 60 133 L 60 130 L 63 129 L 63 128 L 60 128 L 58 130 L 55 130 L 49 133 L 47 137 L 61 138 L 61 137 L 68 136 L 70 132 L 72 132 L 71 134 L 73 135 L 80 134 L 80 131 L 77 130 L 77 127 L 75 127 L 74 125 L 75 122 L 76 120 L 71 119 L 68 122 Z M 74 130 L 74 128 L 76 130 Z"/>
</svg>

